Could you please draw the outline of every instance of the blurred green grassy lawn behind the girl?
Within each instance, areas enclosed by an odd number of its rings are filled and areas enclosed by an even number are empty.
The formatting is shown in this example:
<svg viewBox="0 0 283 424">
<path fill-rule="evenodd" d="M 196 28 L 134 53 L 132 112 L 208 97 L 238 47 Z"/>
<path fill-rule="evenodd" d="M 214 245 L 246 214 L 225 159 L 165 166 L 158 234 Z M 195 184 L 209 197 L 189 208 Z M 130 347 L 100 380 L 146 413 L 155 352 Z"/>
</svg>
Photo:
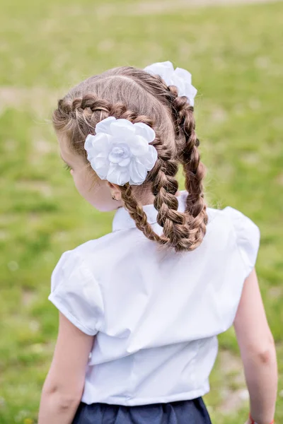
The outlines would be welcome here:
<svg viewBox="0 0 283 424">
<path fill-rule="evenodd" d="M 37 421 L 57 336 L 47 300 L 54 265 L 111 228 L 112 215 L 76 193 L 49 120 L 57 98 L 112 66 L 171 60 L 192 73 L 209 206 L 238 208 L 261 230 L 257 270 L 282 377 L 283 3 L 210 4 L 1 4 L 0 424 Z M 244 423 L 248 396 L 233 331 L 220 343 L 205 401 L 213 423 Z"/>
</svg>

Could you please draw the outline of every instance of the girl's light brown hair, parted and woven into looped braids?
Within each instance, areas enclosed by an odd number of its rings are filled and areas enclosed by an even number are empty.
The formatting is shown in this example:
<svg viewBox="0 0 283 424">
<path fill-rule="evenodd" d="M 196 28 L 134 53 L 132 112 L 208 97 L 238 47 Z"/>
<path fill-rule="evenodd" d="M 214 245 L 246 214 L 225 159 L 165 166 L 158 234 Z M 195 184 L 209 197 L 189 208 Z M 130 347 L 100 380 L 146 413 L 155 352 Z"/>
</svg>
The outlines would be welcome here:
<svg viewBox="0 0 283 424">
<path fill-rule="evenodd" d="M 57 132 L 67 135 L 71 147 L 86 159 L 83 147 L 88 134 L 106 117 L 144 122 L 156 132 L 152 145 L 158 159 L 140 187 L 150 187 L 157 222 L 163 234 L 157 235 L 147 222 L 138 190 L 129 184 L 120 187 L 122 200 L 137 228 L 149 240 L 173 247 L 176 252 L 192 251 L 200 245 L 208 222 L 200 162 L 195 134 L 193 107 L 179 97 L 175 86 L 167 86 L 159 76 L 129 66 L 110 69 L 91 76 L 72 88 L 58 101 L 52 120 Z M 182 164 L 188 192 L 185 213 L 178 211 L 178 165 Z"/>
</svg>

